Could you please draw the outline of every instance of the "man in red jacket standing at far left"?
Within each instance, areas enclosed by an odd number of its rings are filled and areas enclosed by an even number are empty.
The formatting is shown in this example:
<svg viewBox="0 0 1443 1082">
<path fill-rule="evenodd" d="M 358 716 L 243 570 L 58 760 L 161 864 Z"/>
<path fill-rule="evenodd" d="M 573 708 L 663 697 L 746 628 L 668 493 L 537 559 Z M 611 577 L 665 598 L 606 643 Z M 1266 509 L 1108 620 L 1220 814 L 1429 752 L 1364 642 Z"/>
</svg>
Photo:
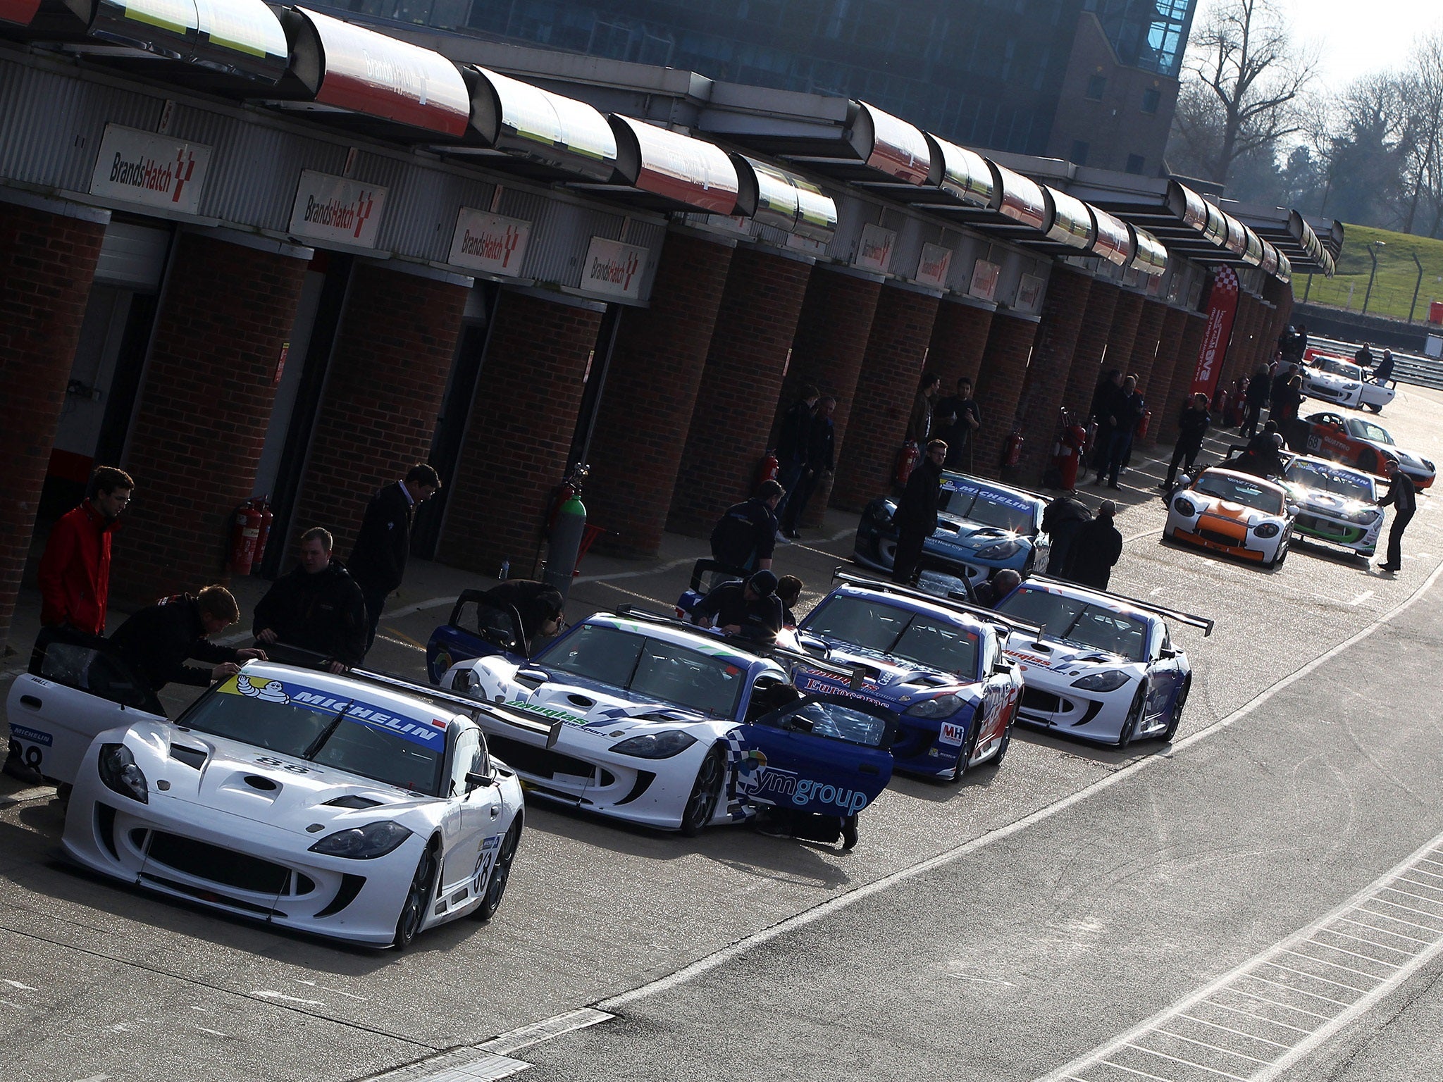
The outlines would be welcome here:
<svg viewBox="0 0 1443 1082">
<path fill-rule="evenodd" d="M 134 489 L 128 473 L 100 466 L 85 502 L 51 529 L 40 557 L 40 623 L 46 628 L 68 623 L 91 635 L 105 633 L 110 535 Z"/>
</svg>

